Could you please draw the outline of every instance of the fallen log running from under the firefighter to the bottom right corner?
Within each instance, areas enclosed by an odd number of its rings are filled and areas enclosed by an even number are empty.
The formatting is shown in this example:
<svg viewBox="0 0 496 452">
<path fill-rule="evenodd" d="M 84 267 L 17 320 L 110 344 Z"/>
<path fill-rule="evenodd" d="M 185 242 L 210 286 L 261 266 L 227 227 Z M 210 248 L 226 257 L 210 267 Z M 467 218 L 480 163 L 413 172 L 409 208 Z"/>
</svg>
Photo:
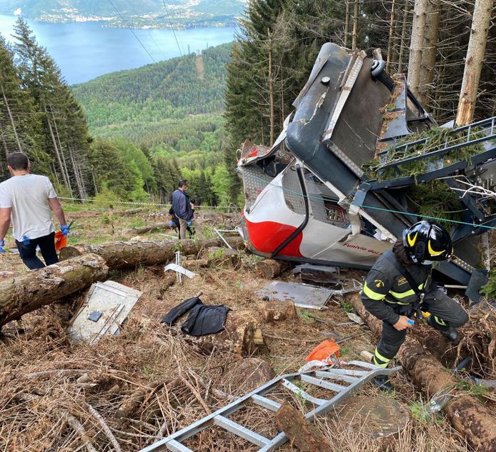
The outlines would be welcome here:
<svg viewBox="0 0 496 452">
<path fill-rule="evenodd" d="M 364 319 L 372 333 L 380 336 L 382 322 L 372 316 L 364 308 L 359 295 L 351 298 L 352 305 Z M 457 379 L 448 372 L 444 366 L 422 344 L 407 336 L 407 340 L 400 348 L 397 358 L 401 365 L 410 374 L 417 386 L 420 386 L 427 393 L 427 397 L 432 397 L 437 391 L 451 391 L 456 396 L 448 402 L 442 411 L 450 419 L 450 422 L 459 431 L 475 450 L 480 452 L 496 451 L 496 419 L 490 411 L 482 405 L 477 398 L 470 394 L 454 389 Z"/>
</svg>

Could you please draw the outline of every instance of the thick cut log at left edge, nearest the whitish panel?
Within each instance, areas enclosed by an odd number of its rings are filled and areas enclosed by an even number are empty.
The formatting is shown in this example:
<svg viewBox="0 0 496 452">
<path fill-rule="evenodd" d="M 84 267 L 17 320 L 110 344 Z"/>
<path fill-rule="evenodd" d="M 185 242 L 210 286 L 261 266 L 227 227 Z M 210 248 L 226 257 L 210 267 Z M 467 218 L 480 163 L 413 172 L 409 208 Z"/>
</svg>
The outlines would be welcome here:
<svg viewBox="0 0 496 452">
<path fill-rule="evenodd" d="M 0 326 L 60 298 L 103 281 L 109 268 L 86 254 L 0 281 Z"/>
</svg>

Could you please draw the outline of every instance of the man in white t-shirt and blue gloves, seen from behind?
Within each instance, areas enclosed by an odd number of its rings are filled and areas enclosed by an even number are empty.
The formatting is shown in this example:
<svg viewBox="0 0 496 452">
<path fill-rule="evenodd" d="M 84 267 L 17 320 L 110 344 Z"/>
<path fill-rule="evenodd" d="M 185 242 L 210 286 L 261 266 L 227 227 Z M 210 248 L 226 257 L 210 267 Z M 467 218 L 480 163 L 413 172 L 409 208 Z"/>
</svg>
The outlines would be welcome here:
<svg viewBox="0 0 496 452">
<path fill-rule="evenodd" d="M 46 176 L 29 174 L 29 159 L 22 152 L 7 156 L 7 168 L 12 177 L 0 184 L 0 252 L 4 252 L 5 234 L 12 222 L 12 235 L 26 266 L 31 270 L 44 267 L 36 256 L 36 246 L 46 265 L 58 262 L 50 209 L 59 220 L 64 236 L 69 233 L 69 227 L 54 186 Z"/>
</svg>

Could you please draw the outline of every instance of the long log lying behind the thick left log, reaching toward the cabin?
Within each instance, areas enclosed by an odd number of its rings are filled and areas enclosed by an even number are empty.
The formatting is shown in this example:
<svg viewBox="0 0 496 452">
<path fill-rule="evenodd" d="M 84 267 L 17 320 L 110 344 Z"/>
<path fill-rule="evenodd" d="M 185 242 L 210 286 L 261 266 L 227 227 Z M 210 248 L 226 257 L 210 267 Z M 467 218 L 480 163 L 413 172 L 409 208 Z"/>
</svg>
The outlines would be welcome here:
<svg viewBox="0 0 496 452">
<path fill-rule="evenodd" d="M 244 248 L 242 237 L 228 238 L 227 241 L 233 248 Z M 211 240 L 118 241 L 100 245 L 76 245 L 62 248 L 60 259 L 63 261 L 74 256 L 95 253 L 104 258 L 106 265 L 114 270 L 137 265 L 158 265 L 174 259 L 176 251 L 181 251 L 183 255 L 197 254 L 210 246 L 222 246 L 222 243 L 220 238 L 214 238 Z"/>
</svg>

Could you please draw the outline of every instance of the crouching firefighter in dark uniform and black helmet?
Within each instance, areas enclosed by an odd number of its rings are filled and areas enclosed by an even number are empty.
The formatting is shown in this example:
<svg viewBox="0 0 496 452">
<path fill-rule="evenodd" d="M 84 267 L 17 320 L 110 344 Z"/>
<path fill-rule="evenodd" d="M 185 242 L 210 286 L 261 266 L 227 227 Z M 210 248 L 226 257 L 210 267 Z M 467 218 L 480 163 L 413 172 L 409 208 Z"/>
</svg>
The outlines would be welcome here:
<svg viewBox="0 0 496 452">
<path fill-rule="evenodd" d="M 455 328 L 467 323 L 467 312 L 431 278 L 432 263 L 446 261 L 452 250 L 445 228 L 420 221 L 405 229 L 402 239 L 369 271 L 360 295 L 367 311 L 382 320 L 382 337 L 372 359 L 376 366 L 387 367 L 405 341 L 407 329 L 422 313 L 448 341 L 460 340 Z M 384 375 L 375 377 L 375 384 L 393 389 Z"/>
</svg>

